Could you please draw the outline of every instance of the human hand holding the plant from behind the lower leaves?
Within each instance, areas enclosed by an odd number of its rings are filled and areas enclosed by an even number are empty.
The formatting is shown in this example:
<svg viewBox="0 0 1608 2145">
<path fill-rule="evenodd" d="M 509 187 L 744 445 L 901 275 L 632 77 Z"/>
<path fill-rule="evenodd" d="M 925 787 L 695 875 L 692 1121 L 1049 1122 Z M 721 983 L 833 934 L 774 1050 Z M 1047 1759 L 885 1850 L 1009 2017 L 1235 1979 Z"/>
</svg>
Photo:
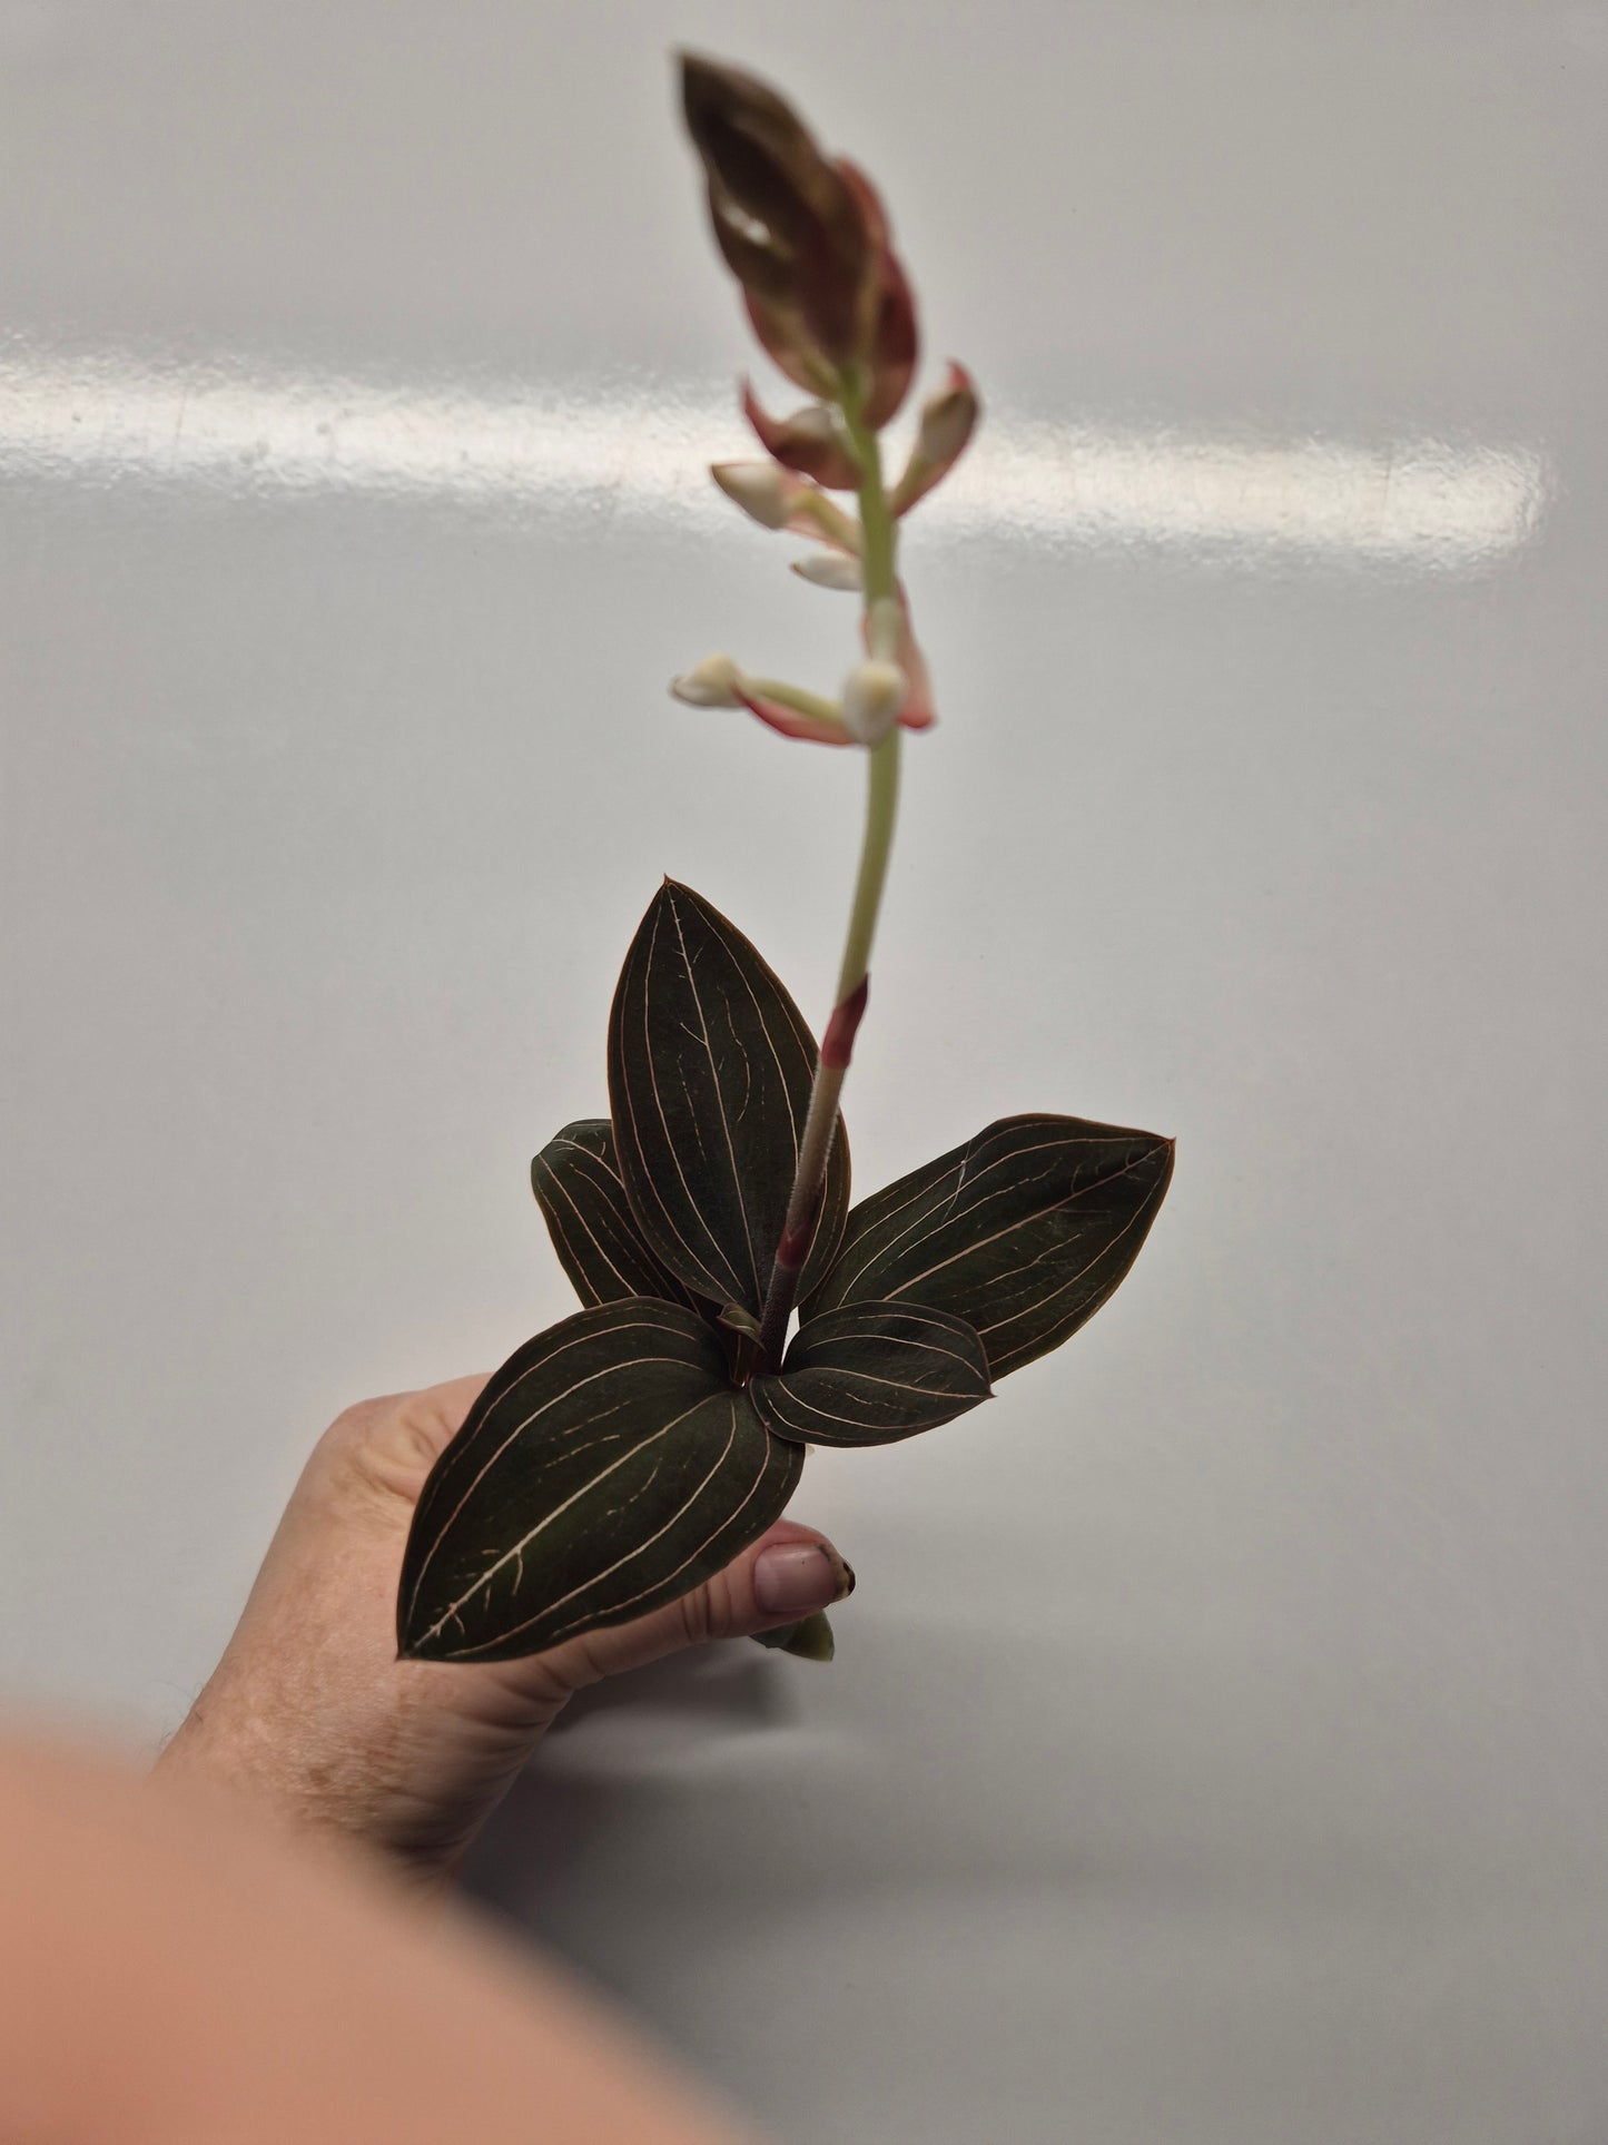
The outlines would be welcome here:
<svg viewBox="0 0 1608 2145">
<path fill-rule="evenodd" d="M 349 1407 L 317 1441 L 240 1624 L 161 1774 L 199 1772 L 296 1825 L 444 1883 L 572 1692 L 703 1639 L 843 1600 L 853 1572 L 780 1519 L 723 1572 L 632 1624 L 497 1662 L 399 1660 L 397 1572 L 425 1478 L 482 1377 Z"/>
</svg>

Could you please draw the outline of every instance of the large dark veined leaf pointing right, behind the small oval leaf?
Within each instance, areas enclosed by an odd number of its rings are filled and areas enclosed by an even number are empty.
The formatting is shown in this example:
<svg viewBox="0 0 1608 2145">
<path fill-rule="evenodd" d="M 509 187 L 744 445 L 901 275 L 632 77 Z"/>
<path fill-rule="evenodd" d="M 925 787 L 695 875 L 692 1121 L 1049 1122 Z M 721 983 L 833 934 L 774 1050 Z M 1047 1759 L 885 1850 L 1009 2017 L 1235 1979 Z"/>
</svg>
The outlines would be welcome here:
<svg viewBox="0 0 1608 2145">
<path fill-rule="evenodd" d="M 1156 1218 L 1173 1141 L 1085 1118 L 1001 1118 L 862 1201 L 804 1317 L 860 1300 L 950 1311 L 995 1377 L 1104 1304 Z"/>
</svg>

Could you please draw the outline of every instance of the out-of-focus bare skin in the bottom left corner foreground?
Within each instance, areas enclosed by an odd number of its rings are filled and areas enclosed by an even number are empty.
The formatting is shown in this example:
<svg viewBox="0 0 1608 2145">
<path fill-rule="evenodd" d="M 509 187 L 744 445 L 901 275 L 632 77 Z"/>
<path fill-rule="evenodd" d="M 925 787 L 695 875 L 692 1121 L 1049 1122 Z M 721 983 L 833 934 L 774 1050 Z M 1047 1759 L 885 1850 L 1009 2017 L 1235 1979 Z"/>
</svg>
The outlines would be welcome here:
<svg viewBox="0 0 1608 2145">
<path fill-rule="evenodd" d="M 753 2145 L 542 1963 L 199 1778 L 0 1740 L 6 2145 Z"/>
</svg>

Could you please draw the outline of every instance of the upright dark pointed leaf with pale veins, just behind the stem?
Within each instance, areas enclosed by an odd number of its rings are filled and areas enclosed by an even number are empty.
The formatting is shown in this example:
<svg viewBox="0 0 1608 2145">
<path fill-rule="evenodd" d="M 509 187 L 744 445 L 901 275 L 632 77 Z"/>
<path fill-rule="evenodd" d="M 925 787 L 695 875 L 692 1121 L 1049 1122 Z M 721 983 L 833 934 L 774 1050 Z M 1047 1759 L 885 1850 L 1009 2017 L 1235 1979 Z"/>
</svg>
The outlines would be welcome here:
<svg viewBox="0 0 1608 2145">
<path fill-rule="evenodd" d="M 630 942 L 609 1015 L 609 1109 L 626 1197 L 688 1289 L 759 1311 L 793 1188 L 815 1040 L 755 948 L 667 879 Z M 838 1124 L 813 1287 L 849 1201 Z"/>
</svg>

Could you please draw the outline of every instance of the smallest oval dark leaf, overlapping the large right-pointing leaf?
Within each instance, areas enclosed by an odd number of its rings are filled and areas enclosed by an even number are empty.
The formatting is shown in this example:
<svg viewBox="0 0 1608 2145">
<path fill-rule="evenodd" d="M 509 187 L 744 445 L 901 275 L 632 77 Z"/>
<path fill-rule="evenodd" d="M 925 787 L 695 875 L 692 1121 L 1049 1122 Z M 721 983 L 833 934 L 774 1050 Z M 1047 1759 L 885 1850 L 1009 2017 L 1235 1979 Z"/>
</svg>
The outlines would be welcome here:
<svg viewBox="0 0 1608 2145">
<path fill-rule="evenodd" d="M 883 1446 L 986 1401 L 988 1358 L 971 1326 L 948 1311 L 845 1304 L 806 1319 L 783 1371 L 748 1390 L 778 1437 Z"/>
</svg>

